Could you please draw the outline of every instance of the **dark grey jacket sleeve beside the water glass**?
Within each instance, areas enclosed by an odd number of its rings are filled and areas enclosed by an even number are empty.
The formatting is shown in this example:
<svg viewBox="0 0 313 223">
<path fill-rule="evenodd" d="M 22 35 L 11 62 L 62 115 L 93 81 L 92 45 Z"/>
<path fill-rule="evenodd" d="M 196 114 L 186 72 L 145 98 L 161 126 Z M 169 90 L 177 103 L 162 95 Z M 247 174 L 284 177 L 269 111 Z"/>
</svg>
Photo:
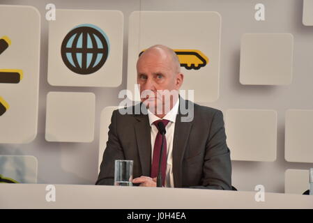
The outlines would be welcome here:
<svg viewBox="0 0 313 223">
<path fill-rule="evenodd" d="M 115 110 L 112 114 L 111 124 L 109 125 L 107 147 L 103 153 L 100 173 L 96 185 L 114 185 L 114 162 L 115 160 L 125 160 L 123 149 L 117 134 L 117 112 L 119 111 Z"/>
</svg>

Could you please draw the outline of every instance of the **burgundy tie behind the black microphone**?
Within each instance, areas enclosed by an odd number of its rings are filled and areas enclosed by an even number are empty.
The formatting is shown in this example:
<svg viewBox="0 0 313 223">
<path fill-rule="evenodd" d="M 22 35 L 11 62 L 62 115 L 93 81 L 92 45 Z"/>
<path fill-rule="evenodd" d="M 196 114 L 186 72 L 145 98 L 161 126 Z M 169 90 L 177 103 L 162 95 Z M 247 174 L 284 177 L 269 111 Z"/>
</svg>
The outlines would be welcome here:
<svg viewBox="0 0 313 223">
<path fill-rule="evenodd" d="M 153 124 L 158 128 L 158 134 L 155 137 L 155 143 L 153 148 L 153 159 L 152 159 L 152 167 L 151 167 L 151 178 L 155 178 L 158 176 L 158 167 L 161 153 L 161 144 L 162 144 L 162 134 L 160 133 L 158 123 L 162 122 L 164 126 L 167 126 L 169 120 L 160 119 L 154 121 Z M 163 154 L 162 154 L 162 164 L 161 164 L 161 173 L 162 173 L 162 185 L 165 185 L 165 174 L 167 170 L 167 139 L 164 137 L 163 141 Z"/>
</svg>

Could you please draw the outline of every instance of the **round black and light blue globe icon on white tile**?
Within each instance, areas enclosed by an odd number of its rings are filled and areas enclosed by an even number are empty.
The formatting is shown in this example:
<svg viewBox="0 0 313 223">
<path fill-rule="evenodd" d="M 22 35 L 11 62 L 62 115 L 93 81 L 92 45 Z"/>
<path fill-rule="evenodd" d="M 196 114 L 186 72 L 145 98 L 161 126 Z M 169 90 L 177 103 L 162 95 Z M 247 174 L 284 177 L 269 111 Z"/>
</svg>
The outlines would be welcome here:
<svg viewBox="0 0 313 223">
<path fill-rule="evenodd" d="M 63 39 L 61 56 L 66 66 L 79 75 L 90 75 L 105 64 L 109 55 L 109 39 L 93 24 L 81 24 Z"/>
</svg>

